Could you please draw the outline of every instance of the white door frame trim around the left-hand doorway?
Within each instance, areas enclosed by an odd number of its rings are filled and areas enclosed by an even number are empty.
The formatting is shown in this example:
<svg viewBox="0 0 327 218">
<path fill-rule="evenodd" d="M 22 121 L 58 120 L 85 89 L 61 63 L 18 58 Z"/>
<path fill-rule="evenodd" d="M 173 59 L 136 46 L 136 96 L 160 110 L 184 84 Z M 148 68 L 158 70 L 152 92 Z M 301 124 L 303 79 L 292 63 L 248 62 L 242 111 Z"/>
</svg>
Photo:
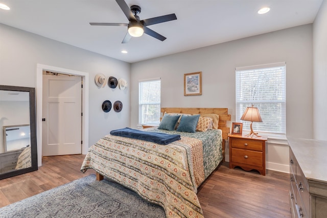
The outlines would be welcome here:
<svg viewBox="0 0 327 218">
<path fill-rule="evenodd" d="M 43 95 L 43 70 L 52 72 L 59 72 L 61 74 L 76 75 L 83 78 L 82 91 L 82 154 L 88 151 L 88 88 L 89 75 L 88 72 L 82 72 L 72 69 L 65 69 L 61 67 L 49 66 L 44 64 L 36 65 L 36 140 L 37 140 L 37 162 L 38 166 L 42 165 L 42 95 Z"/>
</svg>

